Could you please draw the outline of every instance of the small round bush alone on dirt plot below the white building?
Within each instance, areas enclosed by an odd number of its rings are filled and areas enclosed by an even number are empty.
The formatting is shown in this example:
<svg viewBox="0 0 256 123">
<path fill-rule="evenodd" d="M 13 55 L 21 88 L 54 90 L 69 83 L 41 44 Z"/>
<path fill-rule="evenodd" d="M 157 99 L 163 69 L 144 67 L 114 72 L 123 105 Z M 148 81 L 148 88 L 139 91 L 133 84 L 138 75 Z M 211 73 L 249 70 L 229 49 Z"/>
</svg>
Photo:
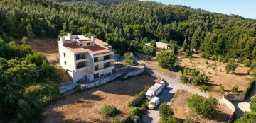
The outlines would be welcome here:
<svg viewBox="0 0 256 123">
<path fill-rule="evenodd" d="M 112 105 L 104 105 L 100 110 L 100 114 L 105 118 L 113 117 L 114 115 L 117 115 L 117 112 L 117 107 Z"/>
</svg>

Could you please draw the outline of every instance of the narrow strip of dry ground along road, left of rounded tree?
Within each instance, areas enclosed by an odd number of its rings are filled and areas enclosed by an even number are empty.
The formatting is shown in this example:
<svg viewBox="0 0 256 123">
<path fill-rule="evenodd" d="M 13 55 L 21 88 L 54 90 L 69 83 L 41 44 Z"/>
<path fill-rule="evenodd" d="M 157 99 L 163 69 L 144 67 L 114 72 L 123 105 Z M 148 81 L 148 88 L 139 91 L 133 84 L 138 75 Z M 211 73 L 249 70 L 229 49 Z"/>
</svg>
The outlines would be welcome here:
<svg viewBox="0 0 256 123">
<path fill-rule="evenodd" d="M 137 52 L 137 56 L 139 57 L 139 59 L 144 60 L 146 62 L 146 64 L 149 64 L 154 69 L 156 69 L 157 71 L 160 71 L 161 73 L 165 74 L 166 76 L 173 77 L 173 78 L 175 77 L 173 71 L 170 71 L 168 69 L 163 69 L 158 65 L 158 63 L 156 61 L 156 57 L 147 57 L 146 54 L 141 54 L 139 52 Z"/>
</svg>

